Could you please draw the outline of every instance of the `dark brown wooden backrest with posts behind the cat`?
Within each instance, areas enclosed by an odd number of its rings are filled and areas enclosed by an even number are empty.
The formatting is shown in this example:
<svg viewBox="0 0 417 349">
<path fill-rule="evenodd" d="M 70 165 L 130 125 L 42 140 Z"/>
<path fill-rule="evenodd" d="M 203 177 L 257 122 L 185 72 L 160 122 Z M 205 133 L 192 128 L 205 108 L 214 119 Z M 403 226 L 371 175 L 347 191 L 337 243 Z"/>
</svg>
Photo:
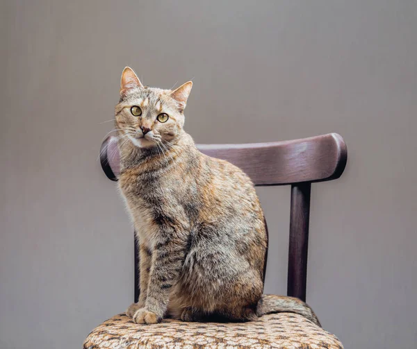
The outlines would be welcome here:
<svg viewBox="0 0 417 349">
<path fill-rule="evenodd" d="M 198 144 L 197 147 L 206 155 L 240 167 L 255 185 L 291 185 L 287 294 L 306 300 L 311 183 L 334 180 L 342 175 L 347 162 L 343 138 L 329 133 L 284 142 Z M 104 140 L 100 160 L 106 176 L 117 180 L 120 157 L 115 137 Z M 137 255 L 135 250 L 136 266 Z M 138 280 L 135 267 L 135 300 L 139 296 Z"/>
</svg>

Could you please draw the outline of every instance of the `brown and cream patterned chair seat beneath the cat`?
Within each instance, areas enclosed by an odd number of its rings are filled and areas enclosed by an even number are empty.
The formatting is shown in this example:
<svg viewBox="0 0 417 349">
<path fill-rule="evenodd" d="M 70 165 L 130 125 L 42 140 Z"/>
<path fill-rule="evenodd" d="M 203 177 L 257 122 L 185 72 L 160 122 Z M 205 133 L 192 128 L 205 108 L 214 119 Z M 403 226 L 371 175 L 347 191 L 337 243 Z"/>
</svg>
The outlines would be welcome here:
<svg viewBox="0 0 417 349">
<path fill-rule="evenodd" d="M 84 349 L 343 349 L 333 335 L 303 316 L 268 314 L 247 323 L 186 323 L 165 319 L 137 325 L 124 314 L 113 316 L 87 337 Z"/>
</svg>

